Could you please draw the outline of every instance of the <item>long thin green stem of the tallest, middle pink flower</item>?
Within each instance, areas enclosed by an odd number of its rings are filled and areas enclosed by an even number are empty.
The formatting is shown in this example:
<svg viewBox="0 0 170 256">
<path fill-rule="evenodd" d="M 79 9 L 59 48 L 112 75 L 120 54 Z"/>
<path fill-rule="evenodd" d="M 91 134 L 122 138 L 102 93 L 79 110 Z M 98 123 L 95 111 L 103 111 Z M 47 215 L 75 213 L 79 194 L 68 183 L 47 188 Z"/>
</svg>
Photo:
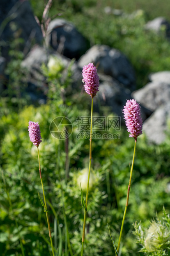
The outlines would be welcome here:
<svg viewBox="0 0 170 256">
<path fill-rule="evenodd" d="M 86 200 L 85 200 L 86 208 L 87 208 L 87 201 L 88 201 L 89 181 L 90 181 L 90 168 L 91 168 L 91 160 L 92 160 L 92 117 L 93 117 L 93 98 L 92 98 L 91 122 L 90 122 L 89 174 L 88 174 L 88 180 L 87 180 L 87 192 L 86 192 Z M 84 213 L 81 256 L 83 256 L 83 246 L 84 246 L 84 242 L 85 242 L 85 224 L 86 224 L 86 218 L 87 218 L 87 211 L 85 211 L 85 213 Z"/>
</svg>

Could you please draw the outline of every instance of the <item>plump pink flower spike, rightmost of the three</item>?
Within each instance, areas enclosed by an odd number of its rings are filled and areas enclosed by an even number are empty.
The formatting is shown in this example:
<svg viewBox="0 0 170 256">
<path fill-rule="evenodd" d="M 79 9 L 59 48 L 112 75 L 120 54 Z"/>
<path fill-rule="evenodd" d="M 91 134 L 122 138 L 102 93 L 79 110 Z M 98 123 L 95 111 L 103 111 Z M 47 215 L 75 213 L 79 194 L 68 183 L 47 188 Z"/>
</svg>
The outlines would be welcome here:
<svg viewBox="0 0 170 256">
<path fill-rule="evenodd" d="M 130 133 L 129 137 L 137 140 L 137 137 L 142 134 L 142 117 L 136 100 L 127 100 L 123 113 L 127 131 Z"/>
</svg>

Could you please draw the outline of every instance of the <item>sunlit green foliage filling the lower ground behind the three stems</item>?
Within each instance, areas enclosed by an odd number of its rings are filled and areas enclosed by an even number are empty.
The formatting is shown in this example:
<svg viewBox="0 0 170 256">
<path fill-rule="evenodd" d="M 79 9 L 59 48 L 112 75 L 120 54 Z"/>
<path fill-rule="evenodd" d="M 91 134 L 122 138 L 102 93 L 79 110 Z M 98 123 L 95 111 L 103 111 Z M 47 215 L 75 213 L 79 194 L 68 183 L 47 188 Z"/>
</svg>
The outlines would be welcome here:
<svg viewBox="0 0 170 256">
<path fill-rule="evenodd" d="M 71 97 L 67 97 L 67 101 L 61 100 L 60 95 L 64 91 L 60 91 L 58 79 L 53 78 L 59 90 L 55 91 L 55 98 L 49 98 L 48 104 L 40 107 L 25 106 L 18 113 L 9 109 L 6 115 L 2 114 L 0 120 L 3 131 L 0 164 L 4 175 L 0 182 L 2 233 L 0 249 L 4 251 L 4 256 L 15 254 L 16 251 L 21 255 L 19 235 L 26 255 L 44 255 L 44 253 L 49 254 L 50 251 L 44 209 L 38 197 L 39 193 L 42 198 L 37 148 L 32 145 L 28 137 L 29 120 L 39 121 L 41 129 L 42 142 L 39 152 L 42 179 L 49 205 L 55 249 L 59 249 L 59 255 L 71 255 L 67 246 L 70 243 L 73 255 L 80 254 L 83 227 L 80 182 L 83 192 L 85 191 L 83 179 L 87 177 L 88 171 L 89 141 L 85 138 L 76 139 L 76 118 L 78 115 L 89 116 L 90 113 L 88 107 L 82 110 L 78 106 L 78 109 Z M 50 83 L 52 80 L 49 80 Z M 79 101 L 82 102 L 85 96 L 79 95 L 79 97 Z M 68 102 L 72 103 L 71 109 L 67 105 Z M 74 126 L 73 133 L 69 137 L 69 155 L 65 142 L 55 139 L 49 130 L 53 118 L 65 114 L 69 116 Z M 108 115 L 111 116 L 112 113 L 108 112 Z M 111 130 L 110 133 L 115 131 Z M 85 255 L 89 255 L 90 252 L 93 255 L 113 255 L 107 223 L 115 245 L 118 243 L 129 183 L 129 163 L 134 146 L 133 138 L 128 137 L 123 127 L 119 135 L 118 140 L 94 139 L 92 142 L 93 170 Z M 138 138 L 123 232 L 124 239 L 122 239 L 123 256 L 142 255 L 142 252 L 138 253 L 138 247 L 134 242 L 132 223 L 142 220 L 144 226 L 148 225 L 149 219 L 153 218 L 155 212 L 157 211 L 158 214 L 161 212 L 163 204 L 170 211 L 169 141 L 170 138 L 167 137 L 164 144 L 156 146 L 149 145 L 144 135 Z M 66 171 L 67 164 L 69 168 Z"/>
</svg>

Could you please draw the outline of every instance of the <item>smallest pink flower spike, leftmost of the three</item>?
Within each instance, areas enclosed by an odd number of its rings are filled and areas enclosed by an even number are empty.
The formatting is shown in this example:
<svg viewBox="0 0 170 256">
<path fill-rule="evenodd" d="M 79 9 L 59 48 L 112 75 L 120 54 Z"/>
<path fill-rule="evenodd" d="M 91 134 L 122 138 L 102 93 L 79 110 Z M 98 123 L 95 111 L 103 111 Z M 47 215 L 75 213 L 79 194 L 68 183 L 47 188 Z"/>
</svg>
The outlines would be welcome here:
<svg viewBox="0 0 170 256">
<path fill-rule="evenodd" d="M 29 121 L 29 126 L 28 126 L 28 132 L 29 132 L 29 136 L 30 136 L 30 141 L 35 145 L 35 146 L 39 146 L 39 144 L 41 143 L 41 131 L 39 128 L 39 124 Z"/>
</svg>

